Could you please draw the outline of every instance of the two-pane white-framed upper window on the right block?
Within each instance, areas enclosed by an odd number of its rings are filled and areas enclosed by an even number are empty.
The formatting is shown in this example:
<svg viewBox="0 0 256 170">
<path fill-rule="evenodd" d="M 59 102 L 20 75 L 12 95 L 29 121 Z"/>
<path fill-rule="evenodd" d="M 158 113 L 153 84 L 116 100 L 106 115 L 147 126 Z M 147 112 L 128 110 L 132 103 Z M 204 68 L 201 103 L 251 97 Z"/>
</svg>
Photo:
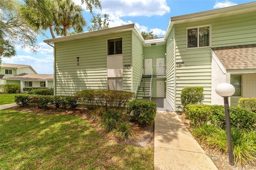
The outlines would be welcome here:
<svg viewBox="0 0 256 170">
<path fill-rule="evenodd" d="M 210 26 L 188 28 L 187 48 L 209 47 L 210 33 Z"/>
</svg>

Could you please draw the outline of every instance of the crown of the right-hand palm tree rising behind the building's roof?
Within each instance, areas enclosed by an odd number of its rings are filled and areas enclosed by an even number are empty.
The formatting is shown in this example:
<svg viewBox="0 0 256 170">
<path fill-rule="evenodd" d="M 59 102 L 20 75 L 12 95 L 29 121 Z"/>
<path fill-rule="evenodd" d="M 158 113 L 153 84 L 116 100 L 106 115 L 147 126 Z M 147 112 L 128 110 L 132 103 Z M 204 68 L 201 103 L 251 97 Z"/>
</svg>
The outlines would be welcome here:
<svg viewBox="0 0 256 170">
<path fill-rule="evenodd" d="M 83 32 L 86 22 L 83 18 L 81 6 L 76 5 L 71 0 L 57 0 L 53 6 L 57 35 L 67 36 L 70 29 L 74 29 L 76 33 Z"/>
</svg>

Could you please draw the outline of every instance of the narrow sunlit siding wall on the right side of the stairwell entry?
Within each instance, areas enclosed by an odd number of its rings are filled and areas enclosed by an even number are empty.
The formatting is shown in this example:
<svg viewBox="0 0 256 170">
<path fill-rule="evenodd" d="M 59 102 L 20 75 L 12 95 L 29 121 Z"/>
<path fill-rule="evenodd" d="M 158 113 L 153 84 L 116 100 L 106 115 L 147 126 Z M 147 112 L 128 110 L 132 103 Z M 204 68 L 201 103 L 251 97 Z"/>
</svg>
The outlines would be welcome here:
<svg viewBox="0 0 256 170">
<path fill-rule="evenodd" d="M 166 41 L 166 99 L 175 106 L 175 38 L 172 28 Z"/>
</svg>

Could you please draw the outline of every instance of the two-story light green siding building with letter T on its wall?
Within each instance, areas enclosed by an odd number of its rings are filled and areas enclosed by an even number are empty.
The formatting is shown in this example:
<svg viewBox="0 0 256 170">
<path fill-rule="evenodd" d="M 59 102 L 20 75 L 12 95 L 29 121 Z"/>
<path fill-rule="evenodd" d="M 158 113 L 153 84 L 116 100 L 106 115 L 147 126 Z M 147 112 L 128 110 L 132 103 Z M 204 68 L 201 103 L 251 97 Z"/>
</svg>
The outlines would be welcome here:
<svg viewBox="0 0 256 170">
<path fill-rule="evenodd" d="M 175 110 L 189 86 L 204 87 L 204 104 L 222 104 L 215 86 L 229 82 L 237 105 L 256 97 L 255 16 L 252 2 L 171 17 L 163 38 L 145 40 L 128 24 L 44 40 L 54 48 L 55 95 L 126 90 Z"/>
</svg>

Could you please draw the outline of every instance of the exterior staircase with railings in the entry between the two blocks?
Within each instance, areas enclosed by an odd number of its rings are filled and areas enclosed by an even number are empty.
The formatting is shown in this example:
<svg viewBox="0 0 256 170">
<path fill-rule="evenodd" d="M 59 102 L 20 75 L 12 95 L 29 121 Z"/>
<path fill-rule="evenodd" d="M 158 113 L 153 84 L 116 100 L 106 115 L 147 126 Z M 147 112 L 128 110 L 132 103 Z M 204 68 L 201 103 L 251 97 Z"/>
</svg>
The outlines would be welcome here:
<svg viewBox="0 0 256 170">
<path fill-rule="evenodd" d="M 140 86 L 137 91 L 137 100 L 150 100 L 150 77 L 142 77 Z"/>
</svg>

